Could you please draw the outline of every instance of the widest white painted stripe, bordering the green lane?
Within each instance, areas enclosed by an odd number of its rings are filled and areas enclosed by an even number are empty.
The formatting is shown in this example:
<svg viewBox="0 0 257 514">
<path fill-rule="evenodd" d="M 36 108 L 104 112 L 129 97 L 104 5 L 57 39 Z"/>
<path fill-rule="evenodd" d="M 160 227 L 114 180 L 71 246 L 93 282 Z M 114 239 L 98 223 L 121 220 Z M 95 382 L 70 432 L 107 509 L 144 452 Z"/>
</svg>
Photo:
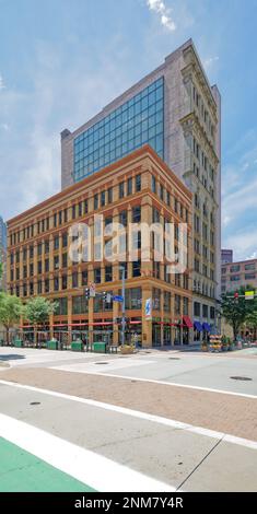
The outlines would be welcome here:
<svg viewBox="0 0 257 514">
<path fill-rule="evenodd" d="M 166 492 L 174 487 L 9 416 L 0 414 L 0 435 L 101 492 Z"/>
</svg>

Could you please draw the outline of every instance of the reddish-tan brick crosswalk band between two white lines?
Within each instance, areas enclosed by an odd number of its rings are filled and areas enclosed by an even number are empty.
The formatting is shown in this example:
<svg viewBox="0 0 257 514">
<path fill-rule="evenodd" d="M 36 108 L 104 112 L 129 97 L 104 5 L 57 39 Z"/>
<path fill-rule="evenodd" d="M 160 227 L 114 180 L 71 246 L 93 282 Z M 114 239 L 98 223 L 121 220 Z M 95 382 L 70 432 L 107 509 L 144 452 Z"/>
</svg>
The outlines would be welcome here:
<svg viewBox="0 0 257 514">
<path fill-rule="evenodd" d="M 7 370 L 1 378 L 257 441 L 253 398 L 43 367 Z"/>
</svg>

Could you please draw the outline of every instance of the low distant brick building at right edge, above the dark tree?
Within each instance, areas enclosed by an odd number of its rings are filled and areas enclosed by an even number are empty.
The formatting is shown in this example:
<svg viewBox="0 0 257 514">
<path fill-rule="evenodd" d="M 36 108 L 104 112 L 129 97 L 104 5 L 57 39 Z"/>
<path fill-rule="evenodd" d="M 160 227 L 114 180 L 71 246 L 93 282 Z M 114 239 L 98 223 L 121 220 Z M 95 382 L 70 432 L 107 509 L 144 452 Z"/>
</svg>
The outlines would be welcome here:
<svg viewBox="0 0 257 514">
<path fill-rule="evenodd" d="M 222 294 L 236 291 L 241 287 L 246 288 L 247 285 L 253 287 L 253 290 L 257 291 L 257 259 L 222 265 Z"/>
</svg>

